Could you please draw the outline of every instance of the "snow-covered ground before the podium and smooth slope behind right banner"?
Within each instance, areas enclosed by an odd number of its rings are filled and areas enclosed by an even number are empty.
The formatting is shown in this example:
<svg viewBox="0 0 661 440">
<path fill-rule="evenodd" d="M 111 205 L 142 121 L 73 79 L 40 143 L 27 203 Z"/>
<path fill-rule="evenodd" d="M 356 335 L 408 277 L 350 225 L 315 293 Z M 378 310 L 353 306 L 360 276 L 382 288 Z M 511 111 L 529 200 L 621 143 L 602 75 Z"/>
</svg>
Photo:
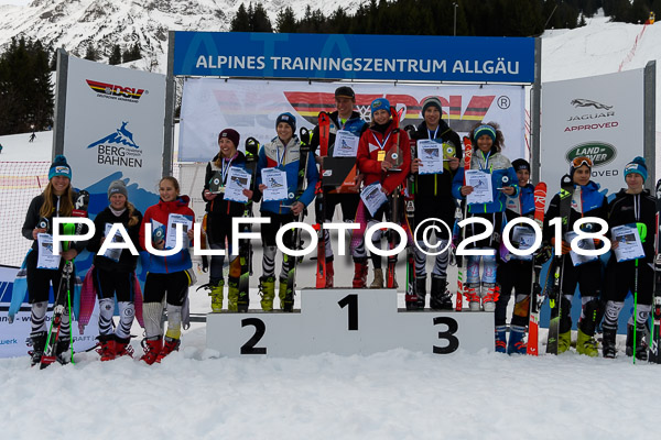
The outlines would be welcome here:
<svg viewBox="0 0 661 440">
<path fill-rule="evenodd" d="M 593 19 L 583 29 L 549 32 L 543 80 L 617 72 L 641 29 Z M 657 34 L 661 24 L 649 26 L 625 69 L 661 59 Z M 50 161 L 51 133 L 37 133 L 34 144 L 28 136 L 0 138 L 0 160 Z M 208 310 L 204 294 L 191 297 L 194 311 Z M 624 353 L 226 359 L 205 339 L 204 324 L 194 323 L 182 350 L 153 366 L 101 363 L 95 353 L 45 371 L 30 369 L 26 358 L 0 360 L 2 438 L 658 438 L 661 369 L 632 365 Z"/>
</svg>

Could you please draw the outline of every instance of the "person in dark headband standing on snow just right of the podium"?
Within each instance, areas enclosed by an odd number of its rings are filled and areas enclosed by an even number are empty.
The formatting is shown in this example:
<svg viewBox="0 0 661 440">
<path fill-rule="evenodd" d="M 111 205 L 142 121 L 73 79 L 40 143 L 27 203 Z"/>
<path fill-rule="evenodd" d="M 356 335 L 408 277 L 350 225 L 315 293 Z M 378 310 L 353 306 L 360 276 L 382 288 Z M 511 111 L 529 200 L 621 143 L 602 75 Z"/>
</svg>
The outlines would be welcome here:
<svg viewBox="0 0 661 440">
<path fill-rule="evenodd" d="M 507 220 L 518 217 L 534 217 L 534 186 L 530 184 L 530 164 L 528 161 L 518 158 L 512 162 L 517 172 L 519 183 L 519 195 L 508 197 L 505 215 Z M 516 228 L 527 228 L 519 224 Z M 502 249 L 502 248 L 501 248 Z M 499 286 L 498 300 L 494 321 L 496 324 L 496 352 L 508 354 L 525 354 L 525 327 L 530 312 L 530 288 L 532 286 L 532 255 L 528 258 L 508 254 L 507 261 L 498 264 L 496 279 Z M 509 344 L 507 343 L 507 305 L 510 300 L 512 288 L 514 289 L 514 310 L 512 312 Z"/>
</svg>

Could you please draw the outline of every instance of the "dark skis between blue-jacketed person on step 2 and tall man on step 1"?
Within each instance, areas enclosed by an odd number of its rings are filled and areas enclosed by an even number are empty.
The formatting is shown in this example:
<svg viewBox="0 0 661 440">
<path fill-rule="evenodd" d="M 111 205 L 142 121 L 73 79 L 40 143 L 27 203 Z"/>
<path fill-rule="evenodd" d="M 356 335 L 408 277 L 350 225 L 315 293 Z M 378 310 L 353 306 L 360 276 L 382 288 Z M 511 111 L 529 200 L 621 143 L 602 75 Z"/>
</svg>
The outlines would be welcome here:
<svg viewBox="0 0 661 440">
<path fill-rule="evenodd" d="M 301 154 L 299 156 L 299 186 L 296 188 L 296 197 L 295 200 L 299 201 L 303 191 L 305 190 L 305 183 L 307 182 L 307 163 L 310 156 L 310 132 L 305 128 L 301 128 L 300 130 L 300 141 L 301 141 Z M 305 213 L 305 209 L 301 211 L 296 221 L 303 221 L 303 216 Z M 299 250 L 302 248 L 301 243 L 301 229 L 295 228 L 292 232 L 292 249 Z M 286 288 L 284 294 L 284 304 L 282 309 L 284 311 L 291 312 L 294 311 L 294 294 L 296 288 L 296 265 L 299 263 L 299 257 L 293 255 L 284 254 L 284 262 L 288 267 L 286 275 Z M 325 257 L 324 257 L 325 264 Z"/>
</svg>

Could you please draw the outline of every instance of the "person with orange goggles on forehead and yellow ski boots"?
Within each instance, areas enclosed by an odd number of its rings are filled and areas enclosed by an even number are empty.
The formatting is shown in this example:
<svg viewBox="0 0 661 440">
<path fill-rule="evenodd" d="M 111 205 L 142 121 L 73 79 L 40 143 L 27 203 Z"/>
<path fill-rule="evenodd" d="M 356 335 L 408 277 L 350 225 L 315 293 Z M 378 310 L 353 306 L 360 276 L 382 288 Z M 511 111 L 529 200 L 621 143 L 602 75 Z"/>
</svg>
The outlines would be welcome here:
<svg viewBox="0 0 661 440">
<path fill-rule="evenodd" d="M 608 216 L 608 202 L 606 196 L 599 193 L 599 185 L 592 182 L 592 160 L 586 156 L 579 156 L 570 164 L 570 176 L 574 183 L 574 194 L 572 196 L 572 210 L 567 222 L 567 231 L 574 230 L 574 223 L 584 217 L 597 217 L 606 220 Z M 554 228 L 549 222 L 560 217 L 560 194 L 553 196 L 544 218 L 544 239 L 551 244 L 555 244 Z M 598 231 L 600 227 L 593 223 L 584 223 L 582 230 Z M 595 243 L 599 246 L 599 242 Z M 576 341 L 576 351 L 579 354 L 596 356 L 597 342 L 594 339 L 595 329 L 598 323 L 598 317 L 602 314 L 599 300 L 602 296 L 602 262 L 599 258 L 574 266 L 572 263 L 570 242 L 566 239 L 562 241 L 563 258 L 562 267 L 562 299 L 560 304 L 560 333 L 557 340 L 557 354 L 568 350 L 572 340 L 572 317 L 570 315 L 572 300 L 576 285 L 581 289 L 581 321 L 578 322 L 578 339 Z"/>
</svg>

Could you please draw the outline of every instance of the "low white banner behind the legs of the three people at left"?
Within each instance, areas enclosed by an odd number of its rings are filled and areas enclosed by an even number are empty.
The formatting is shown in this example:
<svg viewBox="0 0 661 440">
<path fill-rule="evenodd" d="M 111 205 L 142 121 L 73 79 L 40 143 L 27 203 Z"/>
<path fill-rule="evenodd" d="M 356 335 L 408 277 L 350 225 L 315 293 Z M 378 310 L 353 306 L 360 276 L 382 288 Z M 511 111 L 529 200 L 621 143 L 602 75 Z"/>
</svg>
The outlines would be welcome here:
<svg viewBox="0 0 661 440">
<path fill-rule="evenodd" d="M 0 266 L 0 358 L 17 358 L 26 356 L 31 350 L 25 343 L 30 337 L 32 327 L 30 324 L 29 302 L 23 302 L 21 309 L 17 312 L 14 321 L 9 323 L 7 310 L 11 302 L 12 286 L 18 267 Z M 46 326 L 51 326 L 53 317 L 52 304 L 46 312 Z M 85 328 L 85 334 L 78 332 L 78 321 L 75 320 L 72 324 L 72 340 L 74 341 L 74 352 L 85 351 L 96 345 L 96 337 L 99 333 L 99 308 L 95 305 L 94 312 L 89 318 L 89 324 Z"/>
</svg>

